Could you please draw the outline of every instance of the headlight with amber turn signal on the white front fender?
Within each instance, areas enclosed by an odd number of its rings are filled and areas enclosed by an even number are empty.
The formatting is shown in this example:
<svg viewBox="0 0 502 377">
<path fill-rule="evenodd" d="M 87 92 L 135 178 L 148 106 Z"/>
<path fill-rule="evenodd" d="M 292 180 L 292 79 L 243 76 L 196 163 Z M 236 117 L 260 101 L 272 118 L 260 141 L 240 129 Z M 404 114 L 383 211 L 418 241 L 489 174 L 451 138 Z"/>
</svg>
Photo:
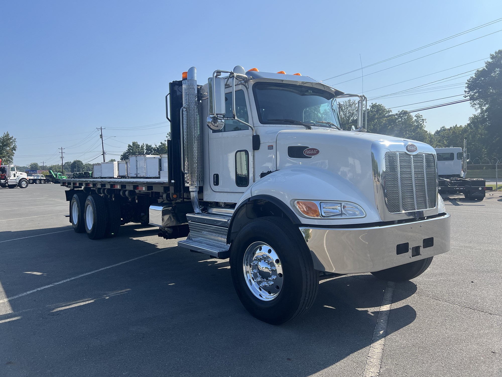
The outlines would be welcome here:
<svg viewBox="0 0 502 377">
<path fill-rule="evenodd" d="M 297 200 L 295 206 L 303 215 L 314 219 L 353 219 L 366 216 L 360 206 L 348 202 Z"/>
</svg>

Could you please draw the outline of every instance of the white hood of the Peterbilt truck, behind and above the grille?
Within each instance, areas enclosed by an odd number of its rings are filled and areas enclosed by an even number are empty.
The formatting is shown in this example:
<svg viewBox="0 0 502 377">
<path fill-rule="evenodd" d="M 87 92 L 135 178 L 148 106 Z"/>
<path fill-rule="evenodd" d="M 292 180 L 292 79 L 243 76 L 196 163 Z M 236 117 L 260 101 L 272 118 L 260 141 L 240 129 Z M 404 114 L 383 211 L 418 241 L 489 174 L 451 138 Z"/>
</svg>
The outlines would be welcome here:
<svg viewBox="0 0 502 377">
<path fill-rule="evenodd" d="M 409 143 L 415 144 L 420 151 L 435 153 L 428 144 L 379 134 L 328 129 L 283 130 L 277 135 L 277 168 L 302 165 L 328 170 L 352 183 L 369 203 L 375 203 L 372 145 L 373 150 L 376 147 L 385 153 L 403 151 Z M 312 149 L 303 153 L 303 147 Z M 312 190 L 312 198 L 305 199 L 327 198 L 329 193 Z"/>
</svg>

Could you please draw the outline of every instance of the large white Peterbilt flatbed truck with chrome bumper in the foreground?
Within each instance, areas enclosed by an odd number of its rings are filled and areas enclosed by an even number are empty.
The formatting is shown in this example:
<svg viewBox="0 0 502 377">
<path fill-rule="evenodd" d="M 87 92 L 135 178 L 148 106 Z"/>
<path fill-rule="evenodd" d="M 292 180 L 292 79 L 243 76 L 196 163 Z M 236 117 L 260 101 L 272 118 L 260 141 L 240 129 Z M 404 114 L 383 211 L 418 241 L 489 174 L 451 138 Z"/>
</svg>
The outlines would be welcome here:
<svg viewBox="0 0 502 377">
<path fill-rule="evenodd" d="M 169 89 L 163 178 L 62 179 L 76 232 L 113 236 L 133 221 L 187 237 L 178 245 L 230 258 L 240 301 L 272 324 L 305 313 L 321 278 L 407 280 L 450 249 L 434 149 L 364 132 L 364 97 L 241 66 L 204 85 L 192 67 Z M 337 111 L 348 97 L 353 131 Z"/>
</svg>

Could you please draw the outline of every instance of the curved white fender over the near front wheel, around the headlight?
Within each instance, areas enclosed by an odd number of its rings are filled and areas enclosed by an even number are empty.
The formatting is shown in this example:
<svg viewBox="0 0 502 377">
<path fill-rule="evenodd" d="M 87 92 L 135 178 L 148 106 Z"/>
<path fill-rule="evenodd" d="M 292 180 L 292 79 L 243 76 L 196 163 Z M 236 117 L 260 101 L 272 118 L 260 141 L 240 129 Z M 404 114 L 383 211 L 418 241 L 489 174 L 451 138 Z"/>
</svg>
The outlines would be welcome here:
<svg viewBox="0 0 502 377">
<path fill-rule="evenodd" d="M 372 184 L 372 182 L 368 182 Z M 315 166 L 292 165 L 276 170 L 256 181 L 242 195 L 235 208 L 256 196 L 272 196 L 290 208 L 302 224 L 337 225 L 380 222 L 374 202 L 369 201 L 349 180 L 326 169 Z M 364 209 L 366 217 L 359 219 L 311 219 L 304 217 L 293 200 L 345 201 L 356 203 Z"/>
</svg>

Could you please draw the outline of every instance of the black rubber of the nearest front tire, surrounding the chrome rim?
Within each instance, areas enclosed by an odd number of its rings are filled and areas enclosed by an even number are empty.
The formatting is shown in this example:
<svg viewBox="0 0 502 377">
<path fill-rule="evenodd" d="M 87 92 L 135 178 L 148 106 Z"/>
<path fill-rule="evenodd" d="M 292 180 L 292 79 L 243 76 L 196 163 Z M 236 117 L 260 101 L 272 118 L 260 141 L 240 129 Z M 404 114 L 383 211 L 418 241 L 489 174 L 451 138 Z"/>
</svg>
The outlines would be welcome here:
<svg viewBox="0 0 502 377">
<path fill-rule="evenodd" d="M 262 301 L 255 296 L 243 273 L 246 250 L 256 242 L 270 245 L 281 259 L 284 275 L 279 276 L 283 279 L 282 288 L 270 301 Z M 319 273 L 314 269 L 310 251 L 300 231 L 288 220 L 263 217 L 242 227 L 232 243 L 230 267 L 240 302 L 261 321 L 273 325 L 291 321 L 306 313 L 317 296 Z"/>
</svg>

